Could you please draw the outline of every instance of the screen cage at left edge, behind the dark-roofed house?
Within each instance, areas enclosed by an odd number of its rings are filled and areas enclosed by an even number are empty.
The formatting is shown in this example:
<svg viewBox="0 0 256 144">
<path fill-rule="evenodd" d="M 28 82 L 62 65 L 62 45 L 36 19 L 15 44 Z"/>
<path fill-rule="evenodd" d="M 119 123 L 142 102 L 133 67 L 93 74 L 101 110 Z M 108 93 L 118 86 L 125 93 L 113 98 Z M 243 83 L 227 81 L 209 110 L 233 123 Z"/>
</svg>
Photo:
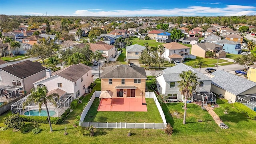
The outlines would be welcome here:
<svg viewBox="0 0 256 144">
<path fill-rule="evenodd" d="M 10 102 L 24 94 L 22 86 L 0 86 L 0 102 Z"/>
</svg>

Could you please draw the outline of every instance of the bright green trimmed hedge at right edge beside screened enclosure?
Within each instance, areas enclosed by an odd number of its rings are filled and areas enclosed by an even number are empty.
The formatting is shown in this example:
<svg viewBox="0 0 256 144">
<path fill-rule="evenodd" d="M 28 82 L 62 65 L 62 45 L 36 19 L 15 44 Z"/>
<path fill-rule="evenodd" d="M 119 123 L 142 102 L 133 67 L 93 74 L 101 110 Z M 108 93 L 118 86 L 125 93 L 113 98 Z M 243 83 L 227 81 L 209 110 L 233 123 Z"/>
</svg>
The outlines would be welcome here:
<svg viewBox="0 0 256 144">
<path fill-rule="evenodd" d="M 250 108 L 248 108 L 247 106 L 245 106 L 244 104 L 241 104 L 239 102 L 235 102 L 233 104 L 233 106 L 234 106 L 234 108 L 236 108 L 236 110 L 238 110 L 242 114 L 245 114 L 252 120 L 256 120 L 256 112 L 254 110 L 251 110 Z"/>
</svg>

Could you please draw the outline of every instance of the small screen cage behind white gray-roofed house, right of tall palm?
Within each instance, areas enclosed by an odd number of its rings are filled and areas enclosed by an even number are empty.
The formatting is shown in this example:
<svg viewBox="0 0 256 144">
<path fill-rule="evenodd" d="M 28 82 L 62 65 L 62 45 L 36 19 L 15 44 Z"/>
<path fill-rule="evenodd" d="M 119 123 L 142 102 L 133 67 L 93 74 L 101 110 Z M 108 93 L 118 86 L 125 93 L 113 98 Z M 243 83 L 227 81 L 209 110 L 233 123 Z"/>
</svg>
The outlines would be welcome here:
<svg viewBox="0 0 256 144">
<path fill-rule="evenodd" d="M 193 102 L 206 106 L 208 104 L 216 104 L 216 95 L 212 92 L 196 92 L 193 94 Z"/>
</svg>

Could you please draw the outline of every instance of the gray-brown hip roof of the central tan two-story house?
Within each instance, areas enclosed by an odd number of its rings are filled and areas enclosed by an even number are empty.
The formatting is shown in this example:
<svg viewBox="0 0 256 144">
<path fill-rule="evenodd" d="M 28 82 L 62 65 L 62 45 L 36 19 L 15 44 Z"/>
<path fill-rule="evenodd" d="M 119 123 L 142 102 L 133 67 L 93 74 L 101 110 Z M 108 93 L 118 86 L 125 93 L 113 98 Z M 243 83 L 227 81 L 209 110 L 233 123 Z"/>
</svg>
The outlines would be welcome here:
<svg viewBox="0 0 256 144">
<path fill-rule="evenodd" d="M 146 79 L 146 71 L 142 67 L 120 65 L 105 67 L 100 78 L 138 78 Z"/>
</svg>

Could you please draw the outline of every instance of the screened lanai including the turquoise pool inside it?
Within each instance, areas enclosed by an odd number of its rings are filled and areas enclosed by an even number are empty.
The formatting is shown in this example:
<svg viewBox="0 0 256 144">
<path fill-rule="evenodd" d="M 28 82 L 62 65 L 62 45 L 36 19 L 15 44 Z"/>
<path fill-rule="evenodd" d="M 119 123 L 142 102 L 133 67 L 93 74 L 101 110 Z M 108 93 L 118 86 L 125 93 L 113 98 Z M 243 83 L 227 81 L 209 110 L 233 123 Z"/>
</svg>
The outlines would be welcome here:
<svg viewBox="0 0 256 144">
<path fill-rule="evenodd" d="M 54 93 L 58 93 L 60 95 L 59 99 L 57 97 L 54 98 L 57 106 L 54 106 L 54 104 L 52 104 L 51 102 L 47 102 L 47 107 L 48 107 L 50 116 L 59 117 L 61 116 L 62 113 L 64 113 L 66 109 L 70 108 L 70 104 L 72 100 L 74 100 L 74 93 L 66 93 L 60 89 L 58 89 L 58 91 L 55 90 Z M 47 116 L 46 107 L 44 104 L 42 105 L 41 112 L 39 112 L 38 104 L 34 104 L 34 103 L 26 106 L 24 109 L 22 108 L 23 107 L 22 104 L 26 101 L 28 96 L 22 98 L 21 100 L 18 100 L 17 102 L 11 105 L 12 113 L 18 112 L 21 115 L 26 115 L 26 116 Z"/>
</svg>

